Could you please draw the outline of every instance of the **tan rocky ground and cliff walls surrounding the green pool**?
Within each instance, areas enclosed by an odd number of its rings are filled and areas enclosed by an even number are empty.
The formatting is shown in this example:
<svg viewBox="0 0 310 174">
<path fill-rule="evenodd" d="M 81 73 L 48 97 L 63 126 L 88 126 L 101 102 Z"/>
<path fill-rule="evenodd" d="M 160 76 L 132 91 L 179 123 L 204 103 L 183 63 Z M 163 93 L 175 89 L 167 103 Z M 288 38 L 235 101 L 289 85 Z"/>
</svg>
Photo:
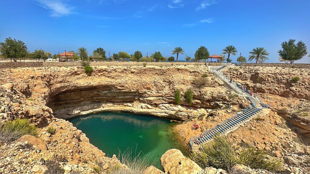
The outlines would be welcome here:
<svg viewBox="0 0 310 174">
<path fill-rule="evenodd" d="M 237 148 L 251 144 L 270 156 L 284 159 L 282 173 L 310 171 L 307 155 L 310 152 L 304 145 L 309 141 L 307 138 L 302 138 L 304 142 L 299 141 L 301 135 L 309 137 L 310 133 L 309 85 L 306 85 L 309 70 L 294 69 L 292 74 L 289 70 L 271 68 L 272 73 L 266 75 L 262 67 L 233 68 L 223 71 L 261 94 L 262 99 L 271 104 L 271 111 L 229 133 L 229 139 Z M 257 73 L 259 75 L 256 77 Z M 202 74 L 207 75 L 206 84 L 199 86 L 193 83 L 193 79 Z M 296 75 L 301 80 L 289 82 Z M 184 96 L 188 87 L 194 92 L 193 104 L 190 106 L 182 98 L 181 105 L 175 105 L 174 91 L 180 89 Z M 250 105 L 245 98 L 224 88 L 223 82 L 211 78 L 205 66 L 199 65 L 101 66 L 95 67 L 91 76 L 87 76 L 81 67 L 1 69 L 0 104 L 0 125 L 7 120 L 27 118 L 39 128 L 37 138 L 23 137 L 12 143 L 0 142 L 0 173 L 43 173 L 50 161 L 66 173 L 95 173 L 93 168 L 97 166 L 104 173 L 120 163 L 115 156 L 105 157 L 104 152 L 89 143 L 81 130 L 61 118 L 93 111 L 131 111 L 185 120 L 176 128 L 188 142 L 190 137 L 199 135 Z M 193 130 L 193 124 L 198 124 L 200 128 Z M 55 128 L 54 134 L 47 133 L 48 126 Z M 172 158 L 172 154 L 179 153 L 170 151 L 162 157 L 166 161 L 165 164 L 162 162 L 163 168 L 166 166 L 165 171 L 170 174 L 180 171 L 266 173 L 245 166 L 236 166 L 228 172 L 214 168 L 199 169 L 199 166 L 195 169 L 195 164 L 183 155 Z M 175 159 L 187 161 L 186 165 L 180 165 L 180 161 L 173 162 Z M 148 170 L 149 173 L 161 172 L 155 167 Z"/>
</svg>

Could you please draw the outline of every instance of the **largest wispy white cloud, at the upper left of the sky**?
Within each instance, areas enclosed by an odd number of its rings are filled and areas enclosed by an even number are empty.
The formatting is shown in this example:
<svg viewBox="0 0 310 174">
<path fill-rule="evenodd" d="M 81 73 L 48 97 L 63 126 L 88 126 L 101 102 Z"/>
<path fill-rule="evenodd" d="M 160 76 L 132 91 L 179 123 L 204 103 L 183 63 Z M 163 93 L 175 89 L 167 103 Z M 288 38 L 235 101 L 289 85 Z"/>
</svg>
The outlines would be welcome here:
<svg viewBox="0 0 310 174">
<path fill-rule="evenodd" d="M 64 15 L 73 14 L 74 7 L 69 7 L 68 4 L 65 4 L 61 0 L 37 0 L 40 7 L 44 9 L 49 9 L 51 11 L 52 17 L 61 17 Z"/>
</svg>

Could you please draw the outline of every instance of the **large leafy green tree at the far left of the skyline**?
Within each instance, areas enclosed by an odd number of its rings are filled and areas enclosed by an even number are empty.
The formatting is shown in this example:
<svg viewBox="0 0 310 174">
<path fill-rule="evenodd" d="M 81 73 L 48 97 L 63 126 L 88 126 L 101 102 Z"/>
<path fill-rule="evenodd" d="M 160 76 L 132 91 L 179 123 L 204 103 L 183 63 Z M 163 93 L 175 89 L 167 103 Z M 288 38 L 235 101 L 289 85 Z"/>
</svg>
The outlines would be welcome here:
<svg viewBox="0 0 310 174">
<path fill-rule="evenodd" d="M 8 37 L 4 42 L 0 42 L 0 53 L 4 58 L 12 59 L 16 62 L 16 59 L 24 58 L 27 54 L 27 46 L 23 41 L 12 39 Z"/>
</svg>

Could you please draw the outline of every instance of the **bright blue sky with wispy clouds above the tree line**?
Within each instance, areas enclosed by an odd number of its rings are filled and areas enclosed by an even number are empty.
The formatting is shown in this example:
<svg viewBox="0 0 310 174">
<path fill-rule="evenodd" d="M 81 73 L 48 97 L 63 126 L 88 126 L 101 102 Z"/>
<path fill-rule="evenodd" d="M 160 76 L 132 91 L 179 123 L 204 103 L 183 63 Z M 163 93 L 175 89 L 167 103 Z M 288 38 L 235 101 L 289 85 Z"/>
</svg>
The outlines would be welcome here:
<svg viewBox="0 0 310 174">
<path fill-rule="evenodd" d="M 219 55 L 233 45 L 234 61 L 265 47 L 266 62 L 278 62 L 289 39 L 302 40 L 310 52 L 309 7 L 309 0 L 4 0 L 0 41 L 12 37 L 52 54 L 102 47 L 107 56 L 136 50 L 170 56 L 176 46 L 191 57 L 200 46 Z"/>
</svg>

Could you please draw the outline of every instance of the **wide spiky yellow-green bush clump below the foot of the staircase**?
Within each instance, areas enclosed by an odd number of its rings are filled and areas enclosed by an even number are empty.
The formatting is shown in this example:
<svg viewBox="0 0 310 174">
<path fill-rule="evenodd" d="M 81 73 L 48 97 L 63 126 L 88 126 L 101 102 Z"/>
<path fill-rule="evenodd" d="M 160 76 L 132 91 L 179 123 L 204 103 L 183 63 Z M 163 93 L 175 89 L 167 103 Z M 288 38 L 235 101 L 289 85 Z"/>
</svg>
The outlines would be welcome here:
<svg viewBox="0 0 310 174">
<path fill-rule="evenodd" d="M 281 159 L 268 159 L 266 154 L 253 146 L 244 147 L 237 153 L 227 137 L 219 135 L 216 135 L 209 144 L 202 145 L 200 153 L 192 152 L 189 158 L 201 168 L 215 167 L 226 171 L 235 164 L 277 171 L 282 163 Z"/>
</svg>

